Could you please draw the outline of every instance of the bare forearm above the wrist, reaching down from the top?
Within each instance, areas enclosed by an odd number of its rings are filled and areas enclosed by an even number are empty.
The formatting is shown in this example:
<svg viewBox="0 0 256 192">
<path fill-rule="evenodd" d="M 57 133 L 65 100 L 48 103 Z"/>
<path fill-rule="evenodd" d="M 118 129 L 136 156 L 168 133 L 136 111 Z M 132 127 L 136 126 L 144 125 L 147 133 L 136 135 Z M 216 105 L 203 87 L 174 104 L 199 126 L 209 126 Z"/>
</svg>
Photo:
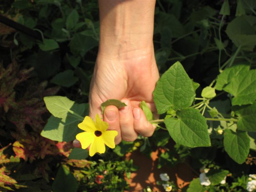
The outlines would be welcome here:
<svg viewBox="0 0 256 192">
<path fill-rule="evenodd" d="M 99 0 L 99 55 L 126 60 L 153 50 L 155 0 Z"/>
</svg>

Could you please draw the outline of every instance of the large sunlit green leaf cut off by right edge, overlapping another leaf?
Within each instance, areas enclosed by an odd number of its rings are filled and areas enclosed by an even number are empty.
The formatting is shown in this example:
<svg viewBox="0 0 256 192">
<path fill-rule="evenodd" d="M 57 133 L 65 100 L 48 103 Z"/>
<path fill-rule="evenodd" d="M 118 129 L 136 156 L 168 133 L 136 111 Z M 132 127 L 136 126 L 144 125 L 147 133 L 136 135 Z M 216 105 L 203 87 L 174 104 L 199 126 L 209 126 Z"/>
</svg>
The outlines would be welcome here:
<svg viewBox="0 0 256 192">
<path fill-rule="evenodd" d="M 238 74 L 223 90 L 234 95 L 232 105 L 252 104 L 256 99 L 256 69 Z"/>
</svg>

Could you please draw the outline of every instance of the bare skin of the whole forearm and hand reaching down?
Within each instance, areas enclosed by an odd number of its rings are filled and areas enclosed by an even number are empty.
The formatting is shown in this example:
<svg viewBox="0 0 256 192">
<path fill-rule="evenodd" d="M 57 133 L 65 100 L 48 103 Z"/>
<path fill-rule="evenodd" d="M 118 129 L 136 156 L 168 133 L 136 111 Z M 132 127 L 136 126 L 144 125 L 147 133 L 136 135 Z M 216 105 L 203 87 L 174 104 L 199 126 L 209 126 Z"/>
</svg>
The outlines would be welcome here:
<svg viewBox="0 0 256 192">
<path fill-rule="evenodd" d="M 115 144 L 152 136 L 139 103 L 156 114 L 152 92 L 159 79 L 153 47 L 155 0 L 99 0 L 100 44 L 91 81 L 89 116 L 101 114 L 100 104 L 117 99 L 127 107 L 108 106 L 103 120 L 116 130 Z M 74 140 L 75 147 L 81 147 Z"/>
</svg>

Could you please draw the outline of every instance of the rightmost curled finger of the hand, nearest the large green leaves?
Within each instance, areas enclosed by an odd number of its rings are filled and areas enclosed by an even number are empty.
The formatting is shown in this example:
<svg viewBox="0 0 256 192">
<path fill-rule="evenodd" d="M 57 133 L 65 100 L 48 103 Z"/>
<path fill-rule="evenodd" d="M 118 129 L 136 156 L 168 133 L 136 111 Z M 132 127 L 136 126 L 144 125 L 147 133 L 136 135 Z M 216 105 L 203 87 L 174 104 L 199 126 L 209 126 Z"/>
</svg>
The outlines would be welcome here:
<svg viewBox="0 0 256 192">
<path fill-rule="evenodd" d="M 134 130 L 144 137 L 150 137 L 155 131 L 155 126 L 147 121 L 145 114 L 139 107 L 132 109 Z"/>
</svg>

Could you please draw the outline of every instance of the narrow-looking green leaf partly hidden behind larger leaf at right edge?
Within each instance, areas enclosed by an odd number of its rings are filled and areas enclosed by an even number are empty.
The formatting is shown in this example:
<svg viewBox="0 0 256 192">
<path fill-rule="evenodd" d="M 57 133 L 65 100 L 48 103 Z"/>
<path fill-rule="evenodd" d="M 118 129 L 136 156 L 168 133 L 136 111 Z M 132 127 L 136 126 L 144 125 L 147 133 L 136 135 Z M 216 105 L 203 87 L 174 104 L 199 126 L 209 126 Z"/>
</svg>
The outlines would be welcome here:
<svg viewBox="0 0 256 192">
<path fill-rule="evenodd" d="M 238 74 L 250 70 L 249 62 L 241 62 L 226 68 L 220 75 L 217 76 L 215 89 L 221 91 L 223 87 L 232 81 Z"/>
</svg>

